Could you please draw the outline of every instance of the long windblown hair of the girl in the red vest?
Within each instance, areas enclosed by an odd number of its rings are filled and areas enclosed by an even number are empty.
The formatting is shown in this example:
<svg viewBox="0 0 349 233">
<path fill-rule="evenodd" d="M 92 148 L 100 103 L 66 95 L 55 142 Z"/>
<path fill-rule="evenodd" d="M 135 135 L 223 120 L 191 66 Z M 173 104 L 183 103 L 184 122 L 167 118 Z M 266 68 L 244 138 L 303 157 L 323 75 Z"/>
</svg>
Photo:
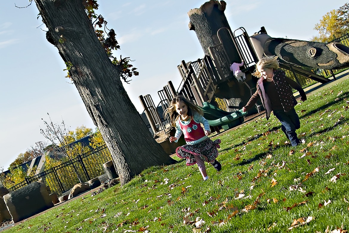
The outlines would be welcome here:
<svg viewBox="0 0 349 233">
<path fill-rule="evenodd" d="M 166 114 L 170 115 L 170 123 L 173 127 L 176 127 L 176 121 L 178 120 L 178 117 L 179 117 L 179 114 L 176 112 L 176 104 L 178 104 L 179 102 L 183 102 L 185 105 L 187 105 L 188 116 L 194 117 L 195 112 L 199 113 L 200 115 L 203 115 L 203 111 L 200 106 L 193 104 L 184 96 L 176 96 L 171 100 L 170 106 L 164 112 L 164 115 Z"/>
</svg>

